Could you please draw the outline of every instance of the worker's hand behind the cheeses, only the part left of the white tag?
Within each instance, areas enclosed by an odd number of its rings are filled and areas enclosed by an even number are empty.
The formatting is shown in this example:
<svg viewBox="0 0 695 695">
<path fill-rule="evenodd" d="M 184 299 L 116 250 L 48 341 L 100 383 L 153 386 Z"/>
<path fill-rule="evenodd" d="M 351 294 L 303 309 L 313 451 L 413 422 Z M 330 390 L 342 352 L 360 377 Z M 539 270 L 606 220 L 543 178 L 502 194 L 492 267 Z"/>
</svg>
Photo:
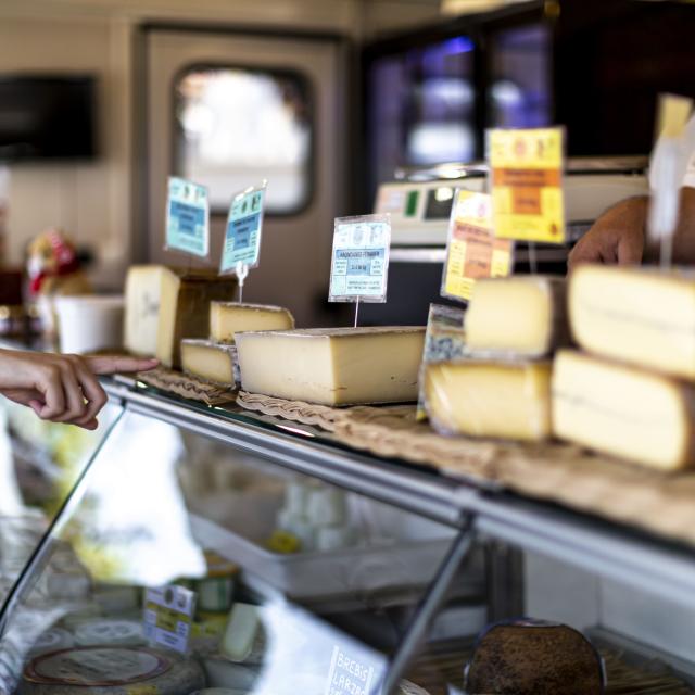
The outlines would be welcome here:
<svg viewBox="0 0 695 695">
<path fill-rule="evenodd" d="M 645 247 L 647 201 L 632 198 L 602 215 L 577 242 L 567 261 L 571 270 L 580 263 L 637 265 Z"/>
</svg>

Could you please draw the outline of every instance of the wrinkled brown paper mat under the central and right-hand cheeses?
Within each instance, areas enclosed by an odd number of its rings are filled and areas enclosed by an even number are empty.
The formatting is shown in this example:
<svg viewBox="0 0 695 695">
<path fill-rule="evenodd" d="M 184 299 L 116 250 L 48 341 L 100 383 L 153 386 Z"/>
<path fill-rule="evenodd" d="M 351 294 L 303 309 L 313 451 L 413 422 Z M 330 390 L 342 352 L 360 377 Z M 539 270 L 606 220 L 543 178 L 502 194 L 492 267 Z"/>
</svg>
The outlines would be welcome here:
<svg viewBox="0 0 695 695">
<path fill-rule="evenodd" d="M 523 445 L 445 438 L 416 422 L 415 406 L 329 408 L 244 392 L 237 403 L 321 427 L 341 443 L 377 456 L 497 483 L 695 544 L 693 472 L 661 473 L 560 443 Z"/>
</svg>

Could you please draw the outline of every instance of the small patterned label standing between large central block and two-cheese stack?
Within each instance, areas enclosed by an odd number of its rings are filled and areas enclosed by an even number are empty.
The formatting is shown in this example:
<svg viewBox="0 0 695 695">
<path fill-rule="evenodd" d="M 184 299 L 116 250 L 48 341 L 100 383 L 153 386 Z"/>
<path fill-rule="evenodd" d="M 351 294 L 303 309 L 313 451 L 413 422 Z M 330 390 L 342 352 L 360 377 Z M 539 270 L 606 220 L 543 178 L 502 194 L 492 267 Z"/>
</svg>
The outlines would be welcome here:
<svg viewBox="0 0 695 695">
<path fill-rule="evenodd" d="M 430 304 L 430 313 L 427 317 L 427 330 L 425 332 L 425 350 L 422 352 L 422 366 L 420 367 L 419 396 L 415 419 L 427 419 L 425 410 L 425 384 L 422 374 L 425 365 L 434 362 L 456 362 L 466 356 L 466 331 L 463 308 Z"/>
</svg>

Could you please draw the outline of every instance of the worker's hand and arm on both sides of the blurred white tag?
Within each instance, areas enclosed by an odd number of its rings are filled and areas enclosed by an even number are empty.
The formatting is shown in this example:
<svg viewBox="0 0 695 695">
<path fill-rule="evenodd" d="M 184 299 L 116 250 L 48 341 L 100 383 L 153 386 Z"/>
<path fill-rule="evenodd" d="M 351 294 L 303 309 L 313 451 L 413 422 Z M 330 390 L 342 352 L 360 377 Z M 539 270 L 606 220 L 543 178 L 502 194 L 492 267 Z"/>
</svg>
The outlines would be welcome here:
<svg viewBox="0 0 695 695">
<path fill-rule="evenodd" d="M 646 243 L 648 198 L 630 198 L 604 213 L 569 255 L 569 269 L 580 263 L 657 262 L 658 245 Z M 681 189 L 681 212 L 673 237 L 673 263 L 695 263 L 695 188 Z"/>
</svg>

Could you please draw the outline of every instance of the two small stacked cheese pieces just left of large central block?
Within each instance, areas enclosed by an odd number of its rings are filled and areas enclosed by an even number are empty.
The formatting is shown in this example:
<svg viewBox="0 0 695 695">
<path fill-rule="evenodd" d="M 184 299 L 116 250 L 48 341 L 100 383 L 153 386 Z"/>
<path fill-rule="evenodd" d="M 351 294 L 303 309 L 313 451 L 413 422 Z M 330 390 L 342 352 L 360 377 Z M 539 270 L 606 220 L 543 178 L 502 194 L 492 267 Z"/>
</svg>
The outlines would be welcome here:
<svg viewBox="0 0 695 695">
<path fill-rule="evenodd" d="M 184 371 L 217 386 L 238 384 L 237 333 L 291 328 L 294 328 L 294 318 L 280 306 L 211 302 L 210 339 L 181 341 Z"/>
</svg>

